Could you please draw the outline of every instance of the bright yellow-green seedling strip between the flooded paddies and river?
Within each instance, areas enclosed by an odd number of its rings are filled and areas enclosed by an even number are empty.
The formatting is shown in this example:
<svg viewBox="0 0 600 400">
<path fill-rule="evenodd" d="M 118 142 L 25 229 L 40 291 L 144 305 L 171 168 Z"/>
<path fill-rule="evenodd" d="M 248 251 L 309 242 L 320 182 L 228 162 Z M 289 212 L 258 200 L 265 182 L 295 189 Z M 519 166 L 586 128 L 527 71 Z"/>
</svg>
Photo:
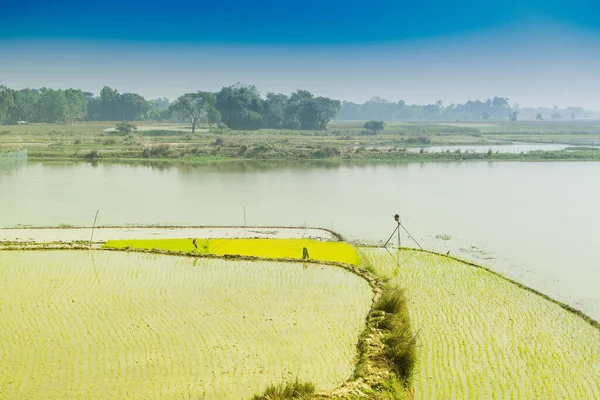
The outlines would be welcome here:
<svg viewBox="0 0 600 400">
<path fill-rule="evenodd" d="M 309 258 L 317 261 L 359 265 L 360 257 L 348 243 L 319 242 L 312 239 L 192 239 L 109 240 L 107 249 L 166 250 L 210 255 L 239 255 L 260 258 L 301 260 L 307 248 Z"/>
</svg>

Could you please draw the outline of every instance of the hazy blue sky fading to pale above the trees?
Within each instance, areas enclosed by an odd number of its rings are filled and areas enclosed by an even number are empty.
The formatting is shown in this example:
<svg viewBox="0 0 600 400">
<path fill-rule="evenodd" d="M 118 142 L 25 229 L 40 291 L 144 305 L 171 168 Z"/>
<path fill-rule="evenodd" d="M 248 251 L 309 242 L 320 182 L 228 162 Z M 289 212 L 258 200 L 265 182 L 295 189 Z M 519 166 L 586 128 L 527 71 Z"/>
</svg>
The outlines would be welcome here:
<svg viewBox="0 0 600 400">
<path fill-rule="evenodd" d="M 356 102 L 600 110 L 597 0 L 5 3 L 0 81 L 13 88 L 173 99 L 241 81 Z"/>
</svg>

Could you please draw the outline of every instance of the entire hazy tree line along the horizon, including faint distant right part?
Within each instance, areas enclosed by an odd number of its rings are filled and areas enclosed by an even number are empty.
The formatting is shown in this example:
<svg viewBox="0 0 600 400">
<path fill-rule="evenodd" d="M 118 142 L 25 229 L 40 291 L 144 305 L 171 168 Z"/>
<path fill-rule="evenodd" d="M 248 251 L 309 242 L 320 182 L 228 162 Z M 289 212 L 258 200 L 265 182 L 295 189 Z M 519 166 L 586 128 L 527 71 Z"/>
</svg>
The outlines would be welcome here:
<svg viewBox="0 0 600 400">
<path fill-rule="evenodd" d="M 262 95 L 254 85 L 236 83 L 218 92 L 186 93 L 174 101 L 147 100 L 137 93 L 119 93 L 105 86 L 98 96 L 80 89 L 21 89 L 0 85 L 0 124 L 19 121 L 74 123 L 75 121 L 187 121 L 195 130 L 223 124 L 234 130 L 252 129 L 326 129 L 331 119 L 338 120 L 559 120 L 594 118 L 581 107 L 521 108 L 505 97 L 464 104 L 409 105 L 373 97 L 363 104 L 318 97 L 307 90 L 289 95 Z"/>
</svg>

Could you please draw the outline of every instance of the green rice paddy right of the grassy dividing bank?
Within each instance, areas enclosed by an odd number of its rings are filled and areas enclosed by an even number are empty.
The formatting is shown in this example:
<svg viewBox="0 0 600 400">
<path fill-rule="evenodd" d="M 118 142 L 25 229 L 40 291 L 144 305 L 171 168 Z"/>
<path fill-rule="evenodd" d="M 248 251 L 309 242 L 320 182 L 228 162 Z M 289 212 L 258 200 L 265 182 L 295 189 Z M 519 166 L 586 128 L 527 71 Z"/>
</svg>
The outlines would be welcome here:
<svg viewBox="0 0 600 400">
<path fill-rule="evenodd" d="M 600 398 L 600 331 L 578 315 L 447 257 L 361 253 L 380 276 L 406 290 L 418 332 L 416 399 Z M 389 298 L 378 307 L 397 303 Z"/>
</svg>

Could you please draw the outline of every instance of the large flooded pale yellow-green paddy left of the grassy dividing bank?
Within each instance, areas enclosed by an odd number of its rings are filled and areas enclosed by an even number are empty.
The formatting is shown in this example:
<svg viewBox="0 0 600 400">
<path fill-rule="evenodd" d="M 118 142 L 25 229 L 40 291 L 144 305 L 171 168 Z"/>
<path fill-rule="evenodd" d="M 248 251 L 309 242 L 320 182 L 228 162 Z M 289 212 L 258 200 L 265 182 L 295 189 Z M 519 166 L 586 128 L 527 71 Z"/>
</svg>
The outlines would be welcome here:
<svg viewBox="0 0 600 400">
<path fill-rule="evenodd" d="M 2 399 L 332 390 L 372 302 L 343 268 L 108 251 L 0 252 L 0 280 Z"/>
</svg>

